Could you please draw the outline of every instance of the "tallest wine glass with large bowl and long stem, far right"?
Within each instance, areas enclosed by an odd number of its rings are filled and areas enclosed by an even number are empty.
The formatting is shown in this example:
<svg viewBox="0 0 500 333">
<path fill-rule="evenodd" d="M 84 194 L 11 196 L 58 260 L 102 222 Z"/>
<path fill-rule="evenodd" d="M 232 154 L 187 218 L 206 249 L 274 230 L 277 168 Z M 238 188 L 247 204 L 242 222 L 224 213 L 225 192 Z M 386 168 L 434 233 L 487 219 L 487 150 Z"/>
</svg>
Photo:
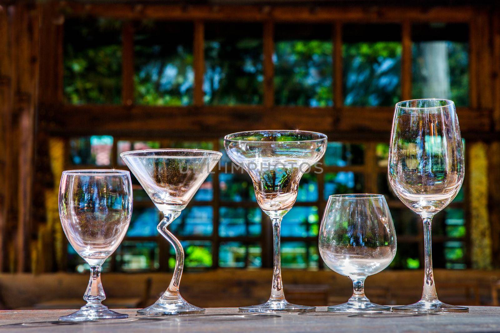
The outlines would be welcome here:
<svg viewBox="0 0 500 333">
<path fill-rule="evenodd" d="M 446 99 L 398 102 L 389 147 L 388 178 L 395 194 L 423 220 L 425 270 L 422 298 L 396 312 L 468 311 L 440 302 L 434 286 L 430 227 L 434 214 L 456 196 L 465 172 L 455 105 Z"/>
</svg>

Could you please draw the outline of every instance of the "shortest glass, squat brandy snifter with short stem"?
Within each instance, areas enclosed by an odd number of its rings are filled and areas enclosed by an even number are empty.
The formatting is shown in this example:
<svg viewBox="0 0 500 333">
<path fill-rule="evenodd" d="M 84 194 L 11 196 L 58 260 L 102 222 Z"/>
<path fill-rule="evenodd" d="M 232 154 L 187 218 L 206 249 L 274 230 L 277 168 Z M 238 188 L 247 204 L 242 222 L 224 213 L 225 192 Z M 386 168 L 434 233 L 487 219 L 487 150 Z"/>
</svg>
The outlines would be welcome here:
<svg viewBox="0 0 500 333">
<path fill-rule="evenodd" d="M 371 303 L 364 295 L 366 277 L 385 269 L 396 255 L 396 233 L 383 195 L 331 195 L 318 241 L 319 254 L 326 266 L 348 276 L 354 289 L 346 303 L 328 307 L 328 311 L 390 311 L 390 307 Z"/>
</svg>

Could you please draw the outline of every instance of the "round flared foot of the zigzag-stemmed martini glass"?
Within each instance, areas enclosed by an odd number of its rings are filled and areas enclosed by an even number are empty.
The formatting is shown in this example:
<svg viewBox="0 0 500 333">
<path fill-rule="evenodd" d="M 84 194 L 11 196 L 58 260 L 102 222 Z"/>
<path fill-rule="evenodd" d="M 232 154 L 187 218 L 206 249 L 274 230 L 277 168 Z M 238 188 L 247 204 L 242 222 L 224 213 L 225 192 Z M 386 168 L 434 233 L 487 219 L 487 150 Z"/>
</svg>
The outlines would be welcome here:
<svg viewBox="0 0 500 333">
<path fill-rule="evenodd" d="M 138 316 L 173 316 L 173 315 L 199 315 L 205 312 L 205 309 L 195 307 L 187 303 L 181 296 L 167 300 L 160 297 L 153 305 L 142 310 L 137 310 Z"/>
</svg>

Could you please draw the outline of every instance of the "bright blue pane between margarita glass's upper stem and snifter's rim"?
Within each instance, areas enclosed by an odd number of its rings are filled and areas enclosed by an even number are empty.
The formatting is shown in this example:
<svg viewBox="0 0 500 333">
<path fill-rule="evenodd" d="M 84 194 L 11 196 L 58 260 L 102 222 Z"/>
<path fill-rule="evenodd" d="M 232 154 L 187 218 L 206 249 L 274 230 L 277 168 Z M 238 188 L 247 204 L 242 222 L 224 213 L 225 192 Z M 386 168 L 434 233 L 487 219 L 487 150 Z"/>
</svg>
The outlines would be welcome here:
<svg viewBox="0 0 500 333">
<path fill-rule="evenodd" d="M 319 226 L 317 207 L 293 207 L 281 222 L 282 237 L 317 236 Z"/>
</svg>

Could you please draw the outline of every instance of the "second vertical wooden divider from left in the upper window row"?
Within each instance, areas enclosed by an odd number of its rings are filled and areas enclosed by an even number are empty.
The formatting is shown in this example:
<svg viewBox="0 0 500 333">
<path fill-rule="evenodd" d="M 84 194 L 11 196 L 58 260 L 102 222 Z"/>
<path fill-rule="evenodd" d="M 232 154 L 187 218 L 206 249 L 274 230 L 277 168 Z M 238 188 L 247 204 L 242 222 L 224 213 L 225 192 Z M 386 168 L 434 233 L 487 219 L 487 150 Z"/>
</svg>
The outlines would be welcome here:
<svg viewBox="0 0 500 333">
<path fill-rule="evenodd" d="M 205 75 L 205 26 L 201 20 L 194 21 L 193 57 L 194 57 L 194 92 L 193 104 L 203 105 L 203 77 Z"/>
</svg>

